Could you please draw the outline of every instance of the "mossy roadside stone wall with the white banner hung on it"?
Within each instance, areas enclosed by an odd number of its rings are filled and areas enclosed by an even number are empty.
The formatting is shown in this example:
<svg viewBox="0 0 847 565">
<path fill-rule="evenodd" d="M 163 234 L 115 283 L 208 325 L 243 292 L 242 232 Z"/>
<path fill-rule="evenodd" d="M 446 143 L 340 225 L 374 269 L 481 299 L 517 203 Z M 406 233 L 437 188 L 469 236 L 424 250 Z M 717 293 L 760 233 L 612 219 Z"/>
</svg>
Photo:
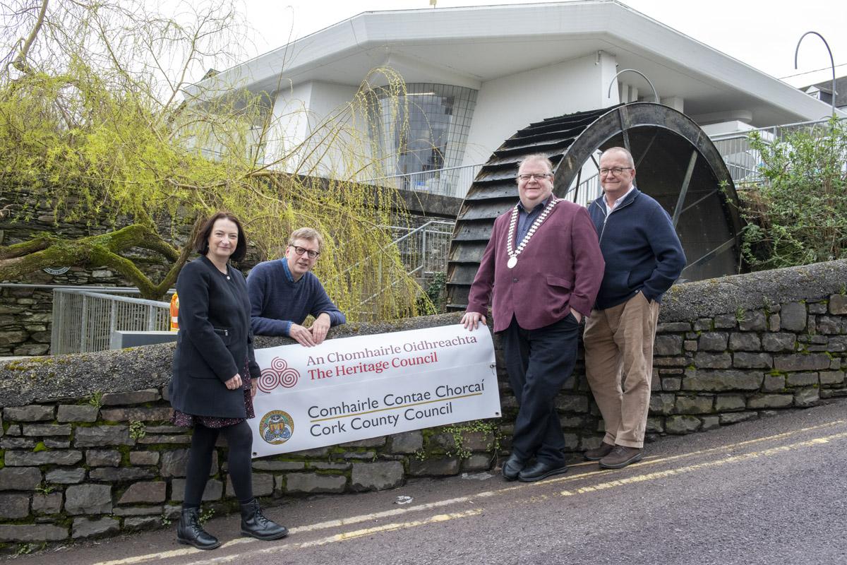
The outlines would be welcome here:
<svg viewBox="0 0 847 565">
<path fill-rule="evenodd" d="M 847 396 L 847 262 L 675 286 L 656 338 L 649 440 Z M 335 339 L 455 324 L 443 314 L 347 324 Z M 257 346 L 289 343 L 258 338 Z M 495 340 L 495 344 L 497 341 Z M 65 541 L 155 528 L 179 509 L 189 435 L 163 397 L 173 345 L 42 357 L 0 367 L 0 543 Z M 502 372 L 504 417 L 424 429 L 253 463 L 266 501 L 380 490 L 422 476 L 491 468 L 509 451 L 517 410 Z M 599 445 L 602 422 L 584 379 L 556 398 L 573 457 Z M 235 507 L 219 448 L 204 504 Z"/>
</svg>

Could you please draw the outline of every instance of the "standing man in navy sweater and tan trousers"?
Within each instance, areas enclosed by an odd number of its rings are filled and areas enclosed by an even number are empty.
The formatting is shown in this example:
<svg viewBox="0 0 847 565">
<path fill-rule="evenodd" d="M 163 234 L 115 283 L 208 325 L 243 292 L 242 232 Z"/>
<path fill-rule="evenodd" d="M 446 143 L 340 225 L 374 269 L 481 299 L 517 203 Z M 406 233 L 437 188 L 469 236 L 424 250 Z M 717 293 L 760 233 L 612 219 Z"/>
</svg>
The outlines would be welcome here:
<svg viewBox="0 0 847 565">
<path fill-rule="evenodd" d="M 635 188 L 634 178 L 632 154 L 606 150 L 600 158 L 604 194 L 588 208 L 606 271 L 585 323 L 585 374 L 606 436 L 585 458 L 603 468 L 623 468 L 644 456 L 659 302 L 685 266 L 670 216 Z"/>
</svg>

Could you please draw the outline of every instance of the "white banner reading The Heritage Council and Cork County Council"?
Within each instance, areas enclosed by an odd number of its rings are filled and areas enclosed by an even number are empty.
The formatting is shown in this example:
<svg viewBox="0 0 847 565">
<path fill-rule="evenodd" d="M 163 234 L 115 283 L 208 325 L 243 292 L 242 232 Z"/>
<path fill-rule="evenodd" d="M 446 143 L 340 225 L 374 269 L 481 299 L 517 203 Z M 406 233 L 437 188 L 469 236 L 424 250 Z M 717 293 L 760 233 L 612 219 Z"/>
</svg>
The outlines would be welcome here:
<svg viewBox="0 0 847 565">
<path fill-rule="evenodd" d="M 253 457 L 501 415 L 484 326 L 268 347 L 256 361 Z"/>
</svg>

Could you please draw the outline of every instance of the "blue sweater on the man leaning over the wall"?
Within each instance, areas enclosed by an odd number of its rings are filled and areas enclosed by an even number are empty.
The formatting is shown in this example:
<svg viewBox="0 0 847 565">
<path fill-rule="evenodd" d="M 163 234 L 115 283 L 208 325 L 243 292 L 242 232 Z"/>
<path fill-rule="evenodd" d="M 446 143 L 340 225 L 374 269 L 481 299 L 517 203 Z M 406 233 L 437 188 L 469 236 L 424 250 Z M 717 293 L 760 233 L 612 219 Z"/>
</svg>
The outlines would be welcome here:
<svg viewBox="0 0 847 565">
<path fill-rule="evenodd" d="M 329 314 L 330 325 L 347 319 L 329 300 L 312 273 L 295 281 L 285 258 L 257 264 L 247 277 L 250 324 L 256 335 L 289 335 L 291 324 L 302 324 L 309 314 Z"/>
</svg>

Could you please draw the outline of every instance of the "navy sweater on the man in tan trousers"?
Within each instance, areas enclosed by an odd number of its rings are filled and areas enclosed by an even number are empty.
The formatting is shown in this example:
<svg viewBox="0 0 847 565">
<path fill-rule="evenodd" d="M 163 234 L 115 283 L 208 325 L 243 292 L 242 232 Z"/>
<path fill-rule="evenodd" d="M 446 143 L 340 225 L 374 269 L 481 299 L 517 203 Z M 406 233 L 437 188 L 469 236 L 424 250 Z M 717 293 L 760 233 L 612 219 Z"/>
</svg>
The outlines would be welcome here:
<svg viewBox="0 0 847 565">
<path fill-rule="evenodd" d="M 662 302 L 662 295 L 685 267 L 683 246 L 670 215 L 635 188 L 606 217 L 604 197 L 588 207 L 606 260 L 596 307 L 617 306 L 639 291 L 648 300 Z"/>
</svg>

